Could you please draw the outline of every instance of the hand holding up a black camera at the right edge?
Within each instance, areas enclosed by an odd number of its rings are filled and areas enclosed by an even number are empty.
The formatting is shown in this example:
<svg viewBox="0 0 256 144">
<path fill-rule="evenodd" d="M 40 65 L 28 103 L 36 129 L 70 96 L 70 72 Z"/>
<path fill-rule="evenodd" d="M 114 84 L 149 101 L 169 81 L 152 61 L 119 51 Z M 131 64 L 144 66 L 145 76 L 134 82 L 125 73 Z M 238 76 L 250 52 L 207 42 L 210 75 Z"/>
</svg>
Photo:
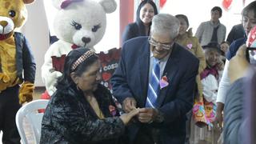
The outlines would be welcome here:
<svg viewBox="0 0 256 144">
<path fill-rule="evenodd" d="M 233 83 L 238 78 L 244 77 L 249 65 L 246 60 L 246 45 L 242 45 L 239 47 L 237 54 L 230 59 L 228 70 L 230 82 Z"/>
</svg>

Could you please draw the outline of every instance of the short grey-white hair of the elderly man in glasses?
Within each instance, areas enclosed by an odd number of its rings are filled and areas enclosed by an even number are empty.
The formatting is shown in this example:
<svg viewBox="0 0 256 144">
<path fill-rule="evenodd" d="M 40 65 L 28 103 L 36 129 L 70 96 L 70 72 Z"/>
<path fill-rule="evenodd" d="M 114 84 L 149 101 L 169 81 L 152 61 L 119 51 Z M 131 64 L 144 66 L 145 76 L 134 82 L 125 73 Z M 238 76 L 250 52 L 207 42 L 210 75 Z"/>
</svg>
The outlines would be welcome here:
<svg viewBox="0 0 256 144">
<path fill-rule="evenodd" d="M 170 38 L 174 39 L 178 36 L 179 20 L 171 14 L 157 14 L 152 19 L 150 28 L 151 34 L 170 34 Z"/>
</svg>

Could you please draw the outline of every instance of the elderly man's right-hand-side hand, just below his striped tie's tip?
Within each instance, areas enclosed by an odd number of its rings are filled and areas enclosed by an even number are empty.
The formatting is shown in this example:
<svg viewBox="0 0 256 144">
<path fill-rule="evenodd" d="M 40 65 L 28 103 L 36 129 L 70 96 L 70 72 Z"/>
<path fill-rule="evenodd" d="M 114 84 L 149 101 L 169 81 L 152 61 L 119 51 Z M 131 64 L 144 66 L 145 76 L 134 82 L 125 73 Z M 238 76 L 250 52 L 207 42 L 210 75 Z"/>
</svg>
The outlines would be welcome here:
<svg viewBox="0 0 256 144">
<path fill-rule="evenodd" d="M 158 110 L 154 108 L 142 108 L 139 110 L 138 121 L 142 123 L 151 123 L 158 116 Z"/>
</svg>

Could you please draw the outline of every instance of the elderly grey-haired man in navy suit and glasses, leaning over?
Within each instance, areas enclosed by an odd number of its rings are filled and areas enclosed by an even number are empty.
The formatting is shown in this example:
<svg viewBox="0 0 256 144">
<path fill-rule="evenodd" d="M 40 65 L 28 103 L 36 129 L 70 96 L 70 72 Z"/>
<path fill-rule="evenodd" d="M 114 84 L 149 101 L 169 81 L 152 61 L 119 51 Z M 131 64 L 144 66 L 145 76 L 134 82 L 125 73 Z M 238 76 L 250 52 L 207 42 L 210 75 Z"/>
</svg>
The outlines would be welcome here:
<svg viewBox="0 0 256 144">
<path fill-rule="evenodd" d="M 175 42 L 178 31 L 177 18 L 158 14 L 149 37 L 130 39 L 122 46 L 111 84 L 125 112 L 141 108 L 128 126 L 130 143 L 185 142 L 199 61 Z"/>
</svg>

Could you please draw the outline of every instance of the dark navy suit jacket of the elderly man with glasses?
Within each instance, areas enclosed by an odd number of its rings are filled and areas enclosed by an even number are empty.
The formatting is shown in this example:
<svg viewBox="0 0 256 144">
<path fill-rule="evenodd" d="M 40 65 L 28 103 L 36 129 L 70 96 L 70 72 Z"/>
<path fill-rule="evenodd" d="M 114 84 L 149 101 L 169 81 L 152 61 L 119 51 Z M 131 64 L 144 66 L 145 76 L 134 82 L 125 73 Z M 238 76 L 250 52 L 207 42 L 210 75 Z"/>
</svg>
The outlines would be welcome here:
<svg viewBox="0 0 256 144">
<path fill-rule="evenodd" d="M 122 57 L 111 78 L 114 96 L 119 102 L 135 98 L 137 106 L 145 107 L 150 67 L 150 44 L 148 37 L 130 39 L 122 47 Z M 174 43 L 163 75 L 169 86 L 160 90 L 156 108 L 163 114 L 164 121 L 151 124 L 133 123 L 128 126 L 131 143 L 142 125 L 158 128 L 163 144 L 184 143 L 186 136 L 186 113 L 193 106 L 195 77 L 198 74 L 198 58 Z"/>
</svg>

